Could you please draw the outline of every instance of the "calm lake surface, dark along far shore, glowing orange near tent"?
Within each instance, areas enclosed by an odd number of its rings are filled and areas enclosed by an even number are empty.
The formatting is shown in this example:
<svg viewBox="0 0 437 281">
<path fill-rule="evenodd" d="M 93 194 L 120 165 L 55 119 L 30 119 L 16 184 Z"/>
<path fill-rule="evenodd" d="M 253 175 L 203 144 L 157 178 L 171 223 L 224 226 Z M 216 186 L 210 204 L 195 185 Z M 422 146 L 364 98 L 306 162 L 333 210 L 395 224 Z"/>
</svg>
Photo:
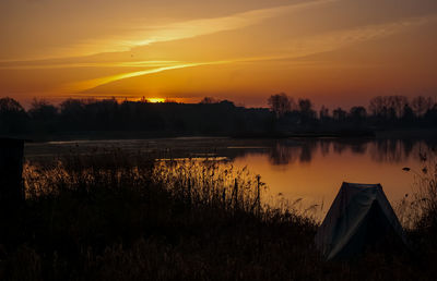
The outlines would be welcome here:
<svg viewBox="0 0 437 281">
<path fill-rule="evenodd" d="M 390 201 L 400 200 L 412 192 L 414 171 L 423 167 L 421 155 L 430 158 L 436 151 L 429 140 L 167 138 L 28 144 L 25 156 L 34 160 L 114 147 L 158 151 L 162 158 L 227 159 L 260 174 L 270 199 L 298 201 L 302 208 L 318 205 L 322 212 L 343 181 L 380 183 Z"/>
</svg>

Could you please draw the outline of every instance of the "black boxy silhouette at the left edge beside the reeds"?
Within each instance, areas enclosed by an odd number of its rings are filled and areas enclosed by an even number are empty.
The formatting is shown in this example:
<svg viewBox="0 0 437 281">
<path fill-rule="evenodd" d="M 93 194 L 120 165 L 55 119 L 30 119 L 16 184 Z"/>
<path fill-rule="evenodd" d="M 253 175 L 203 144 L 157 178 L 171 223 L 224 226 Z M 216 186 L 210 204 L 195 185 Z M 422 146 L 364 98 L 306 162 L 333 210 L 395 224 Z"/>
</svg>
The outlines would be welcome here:
<svg viewBox="0 0 437 281">
<path fill-rule="evenodd" d="M 23 139 L 0 138 L 0 204 L 12 206 L 24 199 Z"/>
</svg>

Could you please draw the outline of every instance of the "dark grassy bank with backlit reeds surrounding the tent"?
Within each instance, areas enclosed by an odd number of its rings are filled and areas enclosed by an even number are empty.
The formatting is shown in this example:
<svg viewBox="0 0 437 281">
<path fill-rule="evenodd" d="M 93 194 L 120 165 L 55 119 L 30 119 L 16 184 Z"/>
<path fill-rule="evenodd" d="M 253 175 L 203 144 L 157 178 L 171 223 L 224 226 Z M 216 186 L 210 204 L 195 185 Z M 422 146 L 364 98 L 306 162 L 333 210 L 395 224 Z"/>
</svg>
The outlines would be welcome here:
<svg viewBox="0 0 437 281">
<path fill-rule="evenodd" d="M 259 178 L 211 161 L 147 159 L 116 150 L 26 164 L 26 200 L 0 215 L 0 280 L 437 278 L 432 171 L 427 200 L 410 212 L 413 253 L 326 262 L 317 223 L 262 205 Z"/>
</svg>

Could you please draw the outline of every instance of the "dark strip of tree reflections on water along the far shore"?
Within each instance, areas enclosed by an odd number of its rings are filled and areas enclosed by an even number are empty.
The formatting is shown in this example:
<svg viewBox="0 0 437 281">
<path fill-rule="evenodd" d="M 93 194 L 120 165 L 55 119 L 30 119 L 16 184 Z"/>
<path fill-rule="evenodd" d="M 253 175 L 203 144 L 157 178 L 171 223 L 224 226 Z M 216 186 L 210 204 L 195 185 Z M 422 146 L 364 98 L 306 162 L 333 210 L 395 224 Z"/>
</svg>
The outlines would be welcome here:
<svg viewBox="0 0 437 281">
<path fill-rule="evenodd" d="M 272 166 L 310 163 L 315 155 L 369 155 L 380 163 L 400 163 L 420 155 L 435 152 L 434 139 L 389 139 L 389 138 L 288 138 L 288 139 L 233 139 L 233 138 L 167 138 L 82 140 L 26 145 L 27 159 L 69 152 L 105 151 L 122 149 L 131 152 L 153 152 L 157 158 L 222 158 L 234 160 L 248 155 L 268 155 Z"/>
</svg>

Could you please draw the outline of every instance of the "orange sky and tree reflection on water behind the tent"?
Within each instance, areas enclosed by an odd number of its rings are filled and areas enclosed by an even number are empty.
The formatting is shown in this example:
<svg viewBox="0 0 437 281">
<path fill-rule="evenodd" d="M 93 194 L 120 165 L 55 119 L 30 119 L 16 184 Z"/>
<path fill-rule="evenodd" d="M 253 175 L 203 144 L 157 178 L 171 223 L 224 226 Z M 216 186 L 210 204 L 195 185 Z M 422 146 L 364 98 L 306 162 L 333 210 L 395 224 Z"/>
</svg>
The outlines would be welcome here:
<svg viewBox="0 0 437 281">
<path fill-rule="evenodd" d="M 415 188 L 415 174 L 402 168 L 421 171 L 423 159 L 435 154 L 435 142 L 424 139 L 324 138 L 274 140 L 267 149 L 228 158 L 261 174 L 272 201 L 298 201 L 303 210 L 316 206 L 315 216 L 322 218 L 342 182 L 380 183 L 395 206 Z"/>
</svg>

